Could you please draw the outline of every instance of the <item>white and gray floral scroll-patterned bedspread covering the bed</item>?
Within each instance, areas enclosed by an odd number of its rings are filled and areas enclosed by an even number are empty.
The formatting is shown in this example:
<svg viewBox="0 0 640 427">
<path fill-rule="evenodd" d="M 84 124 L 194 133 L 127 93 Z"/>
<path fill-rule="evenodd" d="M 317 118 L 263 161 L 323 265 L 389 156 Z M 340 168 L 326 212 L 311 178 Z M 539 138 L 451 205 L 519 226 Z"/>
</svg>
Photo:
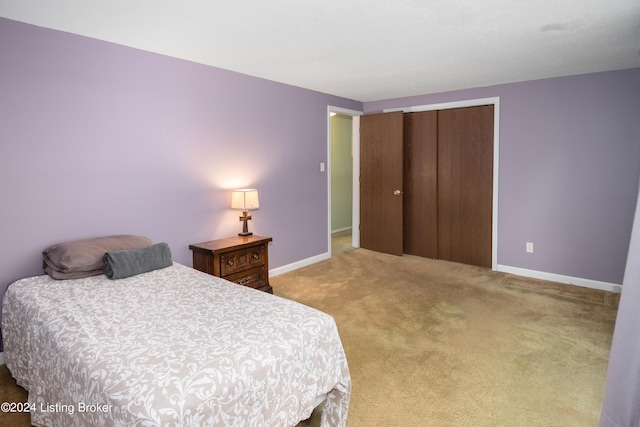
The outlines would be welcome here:
<svg viewBox="0 0 640 427">
<path fill-rule="evenodd" d="M 351 380 L 334 319 L 174 263 L 121 280 L 9 286 L 7 367 L 36 426 L 294 426 Z"/>
</svg>

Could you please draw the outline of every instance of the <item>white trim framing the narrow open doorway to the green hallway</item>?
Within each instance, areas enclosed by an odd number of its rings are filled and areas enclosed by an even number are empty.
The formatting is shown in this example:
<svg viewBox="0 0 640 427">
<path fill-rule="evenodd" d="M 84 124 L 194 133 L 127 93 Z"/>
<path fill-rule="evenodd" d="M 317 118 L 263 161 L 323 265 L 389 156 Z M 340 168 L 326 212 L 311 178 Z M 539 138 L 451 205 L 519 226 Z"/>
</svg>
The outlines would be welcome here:
<svg viewBox="0 0 640 427">
<path fill-rule="evenodd" d="M 327 252 L 331 257 L 331 113 L 351 116 L 351 158 L 353 160 L 353 195 L 351 246 L 360 247 L 360 116 L 362 111 L 327 105 Z"/>
</svg>

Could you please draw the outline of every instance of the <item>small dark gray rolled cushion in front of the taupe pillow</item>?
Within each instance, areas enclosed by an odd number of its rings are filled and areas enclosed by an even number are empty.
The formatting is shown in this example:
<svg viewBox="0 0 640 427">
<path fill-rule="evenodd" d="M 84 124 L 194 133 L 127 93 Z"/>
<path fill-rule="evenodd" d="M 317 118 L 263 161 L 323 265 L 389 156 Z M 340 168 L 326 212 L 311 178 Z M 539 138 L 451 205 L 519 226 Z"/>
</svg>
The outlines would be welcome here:
<svg viewBox="0 0 640 427">
<path fill-rule="evenodd" d="M 114 280 L 159 270 L 172 264 L 171 249 L 166 243 L 104 254 L 104 272 L 109 279 Z"/>
</svg>

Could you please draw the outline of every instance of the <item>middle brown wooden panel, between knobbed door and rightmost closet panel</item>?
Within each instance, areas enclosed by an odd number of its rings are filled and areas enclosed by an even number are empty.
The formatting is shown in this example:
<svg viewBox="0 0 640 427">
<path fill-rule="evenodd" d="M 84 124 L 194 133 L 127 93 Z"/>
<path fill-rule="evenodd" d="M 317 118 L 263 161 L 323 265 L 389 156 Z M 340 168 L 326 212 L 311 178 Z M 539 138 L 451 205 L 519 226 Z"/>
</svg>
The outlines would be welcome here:
<svg viewBox="0 0 640 427">
<path fill-rule="evenodd" d="M 438 257 L 438 112 L 404 115 L 404 252 Z"/>
</svg>

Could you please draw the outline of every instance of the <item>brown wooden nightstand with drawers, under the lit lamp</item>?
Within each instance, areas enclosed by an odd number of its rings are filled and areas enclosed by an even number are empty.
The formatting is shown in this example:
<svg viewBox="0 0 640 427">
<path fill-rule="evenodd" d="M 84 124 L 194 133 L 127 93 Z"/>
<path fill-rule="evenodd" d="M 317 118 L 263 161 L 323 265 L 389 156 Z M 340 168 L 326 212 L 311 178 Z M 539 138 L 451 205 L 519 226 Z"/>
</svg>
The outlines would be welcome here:
<svg viewBox="0 0 640 427">
<path fill-rule="evenodd" d="M 271 240 L 264 236 L 234 236 L 189 245 L 193 268 L 272 294 L 268 251 Z"/>
</svg>

